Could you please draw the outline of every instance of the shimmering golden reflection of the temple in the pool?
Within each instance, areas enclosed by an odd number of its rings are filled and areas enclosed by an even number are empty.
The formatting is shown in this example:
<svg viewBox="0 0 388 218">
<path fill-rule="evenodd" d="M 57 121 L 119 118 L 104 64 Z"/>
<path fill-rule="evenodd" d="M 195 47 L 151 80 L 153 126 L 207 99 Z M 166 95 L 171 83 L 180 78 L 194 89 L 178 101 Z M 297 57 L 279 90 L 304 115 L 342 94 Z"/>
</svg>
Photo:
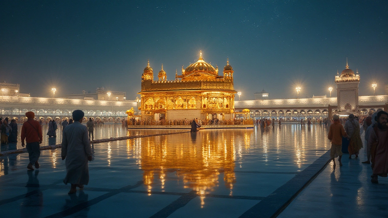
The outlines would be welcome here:
<svg viewBox="0 0 388 218">
<path fill-rule="evenodd" d="M 236 183 L 234 173 L 236 161 L 235 137 L 241 137 L 245 148 L 249 149 L 253 130 L 245 134 L 203 133 L 181 134 L 180 142 L 168 143 L 169 136 L 145 137 L 127 141 L 127 154 L 140 151 L 137 164 L 141 165 L 143 182 L 151 195 L 155 180 L 159 180 L 162 192 L 165 191 L 167 173 L 176 172 L 178 181 L 183 182 L 185 189 L 195 190 L 200 196 L 201 207 L 205 195 L 214 191 L 219 185 L 219 175 L 223 173 L 225 187 L 232 195 L 233 184 Z M 244 137 L 244 138 L 242 138 Z M 139 138 L 140 139 L 140 138 Z M 211 140 L 210 140 L 211 139 Z M 242 143 L 238 145 L 239 158 L 242 158 Z"/>
</svg>

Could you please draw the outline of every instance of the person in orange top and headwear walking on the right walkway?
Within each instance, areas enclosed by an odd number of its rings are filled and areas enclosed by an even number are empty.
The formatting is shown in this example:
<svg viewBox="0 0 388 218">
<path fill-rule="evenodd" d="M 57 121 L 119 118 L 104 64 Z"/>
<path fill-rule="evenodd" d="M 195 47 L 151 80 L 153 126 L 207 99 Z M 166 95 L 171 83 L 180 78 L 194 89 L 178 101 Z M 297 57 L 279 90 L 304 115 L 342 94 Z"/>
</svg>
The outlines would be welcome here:
<svg viewBox="0 0 388 218">
<path fill-rule="evenodd" d="M 333 116 L 334 123 L 330 125 L 329 135 L 327 138 L 331 142 L 330 149 L 330 158 L 333 160 L 333 167 L 336 167 L 335 158 L 338 157 L 338 162 L 340 162 L 340 166 L 342 166 L 341 158 L 342 158 L 342 137 L 347 137 L 345 129 L 340 123 L 340 116 Z"/>
</svg>

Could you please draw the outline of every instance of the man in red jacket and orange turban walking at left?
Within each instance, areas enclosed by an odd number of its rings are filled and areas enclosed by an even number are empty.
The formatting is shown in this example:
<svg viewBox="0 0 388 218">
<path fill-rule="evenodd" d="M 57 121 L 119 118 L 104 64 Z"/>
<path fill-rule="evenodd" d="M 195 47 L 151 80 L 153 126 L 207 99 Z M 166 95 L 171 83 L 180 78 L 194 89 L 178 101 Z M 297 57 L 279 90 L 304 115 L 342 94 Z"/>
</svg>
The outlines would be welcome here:
<svg viewBox="0 0 388 218">
<path fill-rule="evenodd" d="M 40 123 L 34 120 L 34 112 L 26 112 L 26 117 L 28 120 L 23 123 L 21 131 L 21 141 L 22 147 L 24 147 L 24 139 L 27 142 L 26 148 L 28 152 L 29 164 L 27 168 L 29 170 L 34 170 L 32 165 L 35 165 L 35 168 L 39 168 L 39 157 L 40 157 L 40 144 L 42 144 L 42 127 Z"/>
</svg>

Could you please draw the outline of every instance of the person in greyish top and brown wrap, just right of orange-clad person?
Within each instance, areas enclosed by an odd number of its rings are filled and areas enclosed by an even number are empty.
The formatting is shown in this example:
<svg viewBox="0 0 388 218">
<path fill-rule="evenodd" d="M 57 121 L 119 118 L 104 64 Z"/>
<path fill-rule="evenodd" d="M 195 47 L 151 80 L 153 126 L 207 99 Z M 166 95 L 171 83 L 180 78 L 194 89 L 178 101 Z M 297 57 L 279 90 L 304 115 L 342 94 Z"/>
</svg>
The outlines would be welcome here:
<svg viewBox="0 0 388 218">
<path fill-rule="evenodd" d="M 358 157 L 359 151 L 362 148 L 362 140 L 360 136 L 360 124 L 355 119 L 354 114 L 349 115 L 349 119 L 345 122 L 344 128 L 350 139 L 348 146 L 349 159 L 352 159 L 353 154 Z"/>
</svg>

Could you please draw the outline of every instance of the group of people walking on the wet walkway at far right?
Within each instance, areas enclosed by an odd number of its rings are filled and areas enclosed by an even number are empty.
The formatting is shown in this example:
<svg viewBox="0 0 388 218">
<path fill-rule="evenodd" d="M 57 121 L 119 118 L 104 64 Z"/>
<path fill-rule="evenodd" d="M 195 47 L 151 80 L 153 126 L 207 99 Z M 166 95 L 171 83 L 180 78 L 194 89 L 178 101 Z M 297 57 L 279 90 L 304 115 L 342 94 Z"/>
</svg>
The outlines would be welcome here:
<svg viewBox="0 0 388 218">
<path fill-rule="evenodd" d="M 328 139 L 331 141 L 330 157 L 333 167 L 336 167 L 335 158 L 342 166 L 342 155 L 349 154 L 349 159 L 354 155 L 358 158 L 359 151 L 366 145 L 366 161 L 371 164 L 373 174 L 371 182 L 378 183 L 378 176 L 387 177 L 388 173 L 388 113 L 377 110 L 370 116 L 362 119 L 350 114 L 347 119 L 333 116 L 333 123 L 329 128 Z M 365 131 L 362 142 L 361 133 Z"/>
</svg>

